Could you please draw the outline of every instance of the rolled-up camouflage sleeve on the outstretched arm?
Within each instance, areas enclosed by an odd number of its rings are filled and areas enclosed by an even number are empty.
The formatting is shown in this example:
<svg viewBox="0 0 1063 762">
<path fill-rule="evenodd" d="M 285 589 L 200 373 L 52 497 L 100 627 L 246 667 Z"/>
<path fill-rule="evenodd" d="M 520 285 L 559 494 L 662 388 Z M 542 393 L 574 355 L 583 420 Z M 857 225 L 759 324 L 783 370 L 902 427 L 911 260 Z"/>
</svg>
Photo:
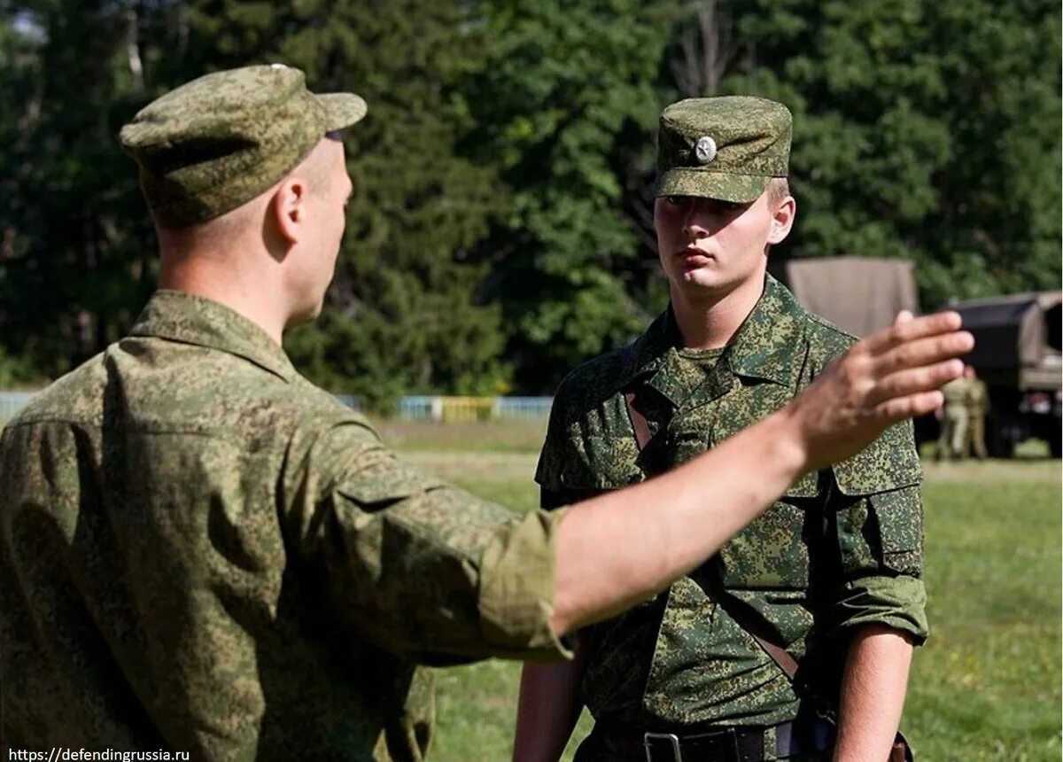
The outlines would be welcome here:
<svg viewBox="0 0 1063 762">
<path fill-rule="evenodd" d="M 421 474 L 357 421 L 296 460 L 289 542 L 342 628 L 426 662 L 571 657 L 549 624 L 561 513 L 514 515 Z"/>
</svg>

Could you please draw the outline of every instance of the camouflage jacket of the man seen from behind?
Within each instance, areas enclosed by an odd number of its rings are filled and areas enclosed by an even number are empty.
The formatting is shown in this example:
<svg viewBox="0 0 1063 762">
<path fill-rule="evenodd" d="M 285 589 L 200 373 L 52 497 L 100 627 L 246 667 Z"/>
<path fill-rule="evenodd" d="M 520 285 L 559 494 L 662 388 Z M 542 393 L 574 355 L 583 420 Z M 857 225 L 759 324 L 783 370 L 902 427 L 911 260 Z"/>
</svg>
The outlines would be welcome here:
<svg viewBox="0 0 1063 762">
<path fill-rule="evenodd" d="M 557 655 L 554 526 L 404 465 L 161 291 L 0 440 L 0 745 L 422 760 L 418 666 Z"/>
</svg>

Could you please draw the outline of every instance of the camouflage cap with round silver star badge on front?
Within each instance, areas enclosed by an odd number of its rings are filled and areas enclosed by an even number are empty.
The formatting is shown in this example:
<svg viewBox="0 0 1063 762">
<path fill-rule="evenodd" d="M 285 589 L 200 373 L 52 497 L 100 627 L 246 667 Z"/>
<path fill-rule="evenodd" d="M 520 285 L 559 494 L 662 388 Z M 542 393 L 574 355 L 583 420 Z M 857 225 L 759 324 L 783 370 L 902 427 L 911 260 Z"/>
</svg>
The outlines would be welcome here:
<svg viewBox="0 0 1063 762">
<path fill-rule="evenodd" d="M 657 196 L 746 204 L 789 172 L 793 118 L 763 98 L 689 98 L 661 112 Z"/>
</svg>

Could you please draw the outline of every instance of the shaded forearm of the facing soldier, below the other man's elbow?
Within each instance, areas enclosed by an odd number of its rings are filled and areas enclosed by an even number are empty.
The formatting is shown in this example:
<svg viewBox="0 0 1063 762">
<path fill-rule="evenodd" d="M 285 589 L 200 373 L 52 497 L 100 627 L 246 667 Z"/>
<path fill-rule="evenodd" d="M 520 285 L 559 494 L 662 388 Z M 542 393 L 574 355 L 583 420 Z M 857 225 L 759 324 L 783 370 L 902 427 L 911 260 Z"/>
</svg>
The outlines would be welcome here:
<svg viewBox="0 0 1063 762">
<path fill-rule="evenodd" d="M 521 673 L 513 762 L 557 762 L 579 718 L 579 680 L 586 651 L 571 662 L 528 662 Z"/>
</svg>

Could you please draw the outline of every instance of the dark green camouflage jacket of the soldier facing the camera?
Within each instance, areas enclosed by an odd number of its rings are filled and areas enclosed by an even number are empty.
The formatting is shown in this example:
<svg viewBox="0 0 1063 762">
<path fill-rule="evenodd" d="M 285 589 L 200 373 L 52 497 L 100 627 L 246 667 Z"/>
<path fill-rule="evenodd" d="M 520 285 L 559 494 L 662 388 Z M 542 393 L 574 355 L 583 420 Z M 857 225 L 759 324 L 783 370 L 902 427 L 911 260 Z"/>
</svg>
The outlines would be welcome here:
<svg viewBox="0 0 1063 762">
<path fill-rule="evenodd" d="M 784 405 L 853 338 L 769 277 L 711 370 L 685 360 L 676 341 L 668 311 L 634 344 L 562 382 L 536 476 L 544 507 L 641 481 L 712 447 Z M 628 391 L 653 434 L 641 452 Z M 668 592 L 580 634 L 589 709 L 636 727 L 783 722 L 812 693 L 819 701 L 837 692 L 851 628 L 881 623 L 921 642 L 919 481 L 910 425 L 799 478 Z M 802 662 L 799 682 L 808 684 L 795 691 L 736 613 L 763 620 Z"/>
</svg>

